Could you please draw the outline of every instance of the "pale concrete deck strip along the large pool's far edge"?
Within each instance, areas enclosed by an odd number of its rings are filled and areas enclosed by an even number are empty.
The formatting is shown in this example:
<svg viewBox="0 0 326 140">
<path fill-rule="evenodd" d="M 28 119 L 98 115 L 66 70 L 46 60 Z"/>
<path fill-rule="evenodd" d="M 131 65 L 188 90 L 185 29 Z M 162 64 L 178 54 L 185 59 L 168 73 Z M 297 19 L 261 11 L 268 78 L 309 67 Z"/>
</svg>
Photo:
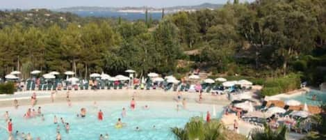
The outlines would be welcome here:
<svg viewBox="0 0 326 140">
<path fill-rule="evenodd" d="M 24 93 L 33 93 L 34 91 L 24 91 Z M 38 104 L 51 103 L 51 91 L 35 91 L 35 93 L 44 93 L 44 95 L 38 95 Z M 17 93 L 22 94 L 22 93 Z M 54 102 L 67 102 L 67 91 L 58 91 L 54 95 Z M 162 90 L 97 90 L 97 91 L 70 91 L 70 100 L 72 102 L 86 102 L 86 101 L 130 101 L 131 98 L 135 98 L 138 101 L 175 101 L 177 98 L 177 92 L 162 91 Z M 211 95 L 202 94 L 203 104 L 220 104 L 227 105 L 230 103 L 227 100 L 227 95 Z M 199 93 L 182 93 L 181 98 L 186 98 L 187 102 L 198 102 Z M 16 98 L 19 105 L 30 105 L 30 96 Z M 13 107 L 13 100 L 15 98 L 8 95 L 8 98 L 0 100 L 0 107 Z"/>
</svg>

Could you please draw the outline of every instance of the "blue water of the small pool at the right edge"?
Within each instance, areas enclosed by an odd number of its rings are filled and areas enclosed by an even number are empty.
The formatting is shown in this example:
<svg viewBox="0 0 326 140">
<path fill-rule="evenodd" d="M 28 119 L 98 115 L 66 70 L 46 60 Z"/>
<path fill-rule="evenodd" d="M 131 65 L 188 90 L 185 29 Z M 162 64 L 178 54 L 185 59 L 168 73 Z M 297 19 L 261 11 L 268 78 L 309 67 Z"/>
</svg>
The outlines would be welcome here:
<svg viewBox="0 0 326 140">
<path fill-rule="evenodd" d="M 313 95 L 316 95 L 316 100 L 311 100 Z M 296 95 L 291 98 L 282 98 L 282 100 L 298 100 L 302 102 L 302 104 L 307 103 L 309 105 L 318 106 L 320 104 L 323 104 L 323 102 L 326 102 L 326 93 L 320 92 L 320 91 L 309 91 L 307 93 L 302 93 L 301 95 Z"/>
</svg>

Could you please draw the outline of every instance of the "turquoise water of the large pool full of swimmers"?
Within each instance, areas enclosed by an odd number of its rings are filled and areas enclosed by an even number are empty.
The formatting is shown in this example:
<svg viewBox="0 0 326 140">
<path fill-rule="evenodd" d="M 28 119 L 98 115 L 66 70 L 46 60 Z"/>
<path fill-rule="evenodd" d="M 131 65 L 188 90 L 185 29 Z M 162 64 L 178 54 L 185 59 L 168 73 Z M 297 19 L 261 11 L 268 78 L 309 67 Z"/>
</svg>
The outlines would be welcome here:
<svg viewBox="0 0 326 140">
<path fill-rule="evenodd" d="M 170 127 L 183 127 L 193 116 L 202 116 L 206 111 L 212 112 L 211 104 L 188 104 L 187 110 L 176 110 L 175 102 L 137 102 L 136 111 L 131 111 L 127 106 L 129 102 L 98 102 L 98 108 L 92 105 L 92 102 L 72 102 L 72 107 L 67 104 L 45 104 L 42 105 L 42 114 L 45 121 L 40 117 L 24 119 L 28 107 L 0 108 L 0 140 L 8 139 L 5 130 L 6 122 L 2 114 L 9 111 L 10 118 L 13 118 L 13 132 L 18 130 L 25 134 L 30 132 L 32 137 L 36 139 L 40 137 L 42 140 L 56 138 L 56 125 L 53 123 L 54 115 L 63 117 L 65 122 L 70 123 L 70 133 L 66 134 L 63 125 L 60 124 L 60 134 L 63 140 L 85 140 L 99 139 L 99 134 L 110 135 L 110 139 L 119 140 L 175 140 L 174 135 L 170 132 Z M 142 109 L 140 106 L 149 105 L 148 110 Z M 77 118 L 81 107 L 87 109 L 85 118 Z M 122 129 L 115 129 L 117 118 L 121 118 L 122 107 L 127 107 L 127 117 L 122 118 L 123 123 L 127 123 Z M 104 120 L 97 120 L 97 111 L 101 109 L 104 112 Z M 35 110 L 36 107 L 35 107 Z M 217 116 L 222 115 L 222 106 L 216 106 Z M 153 125 L 156 129 L 153 129 Z M 140 131 L 135 131 L 136 127 L 140 127 Z M 17 138 L 16 138 L 17 139 Z M 18 138 L 19 139 L 19 138 Z"/>
</svg>

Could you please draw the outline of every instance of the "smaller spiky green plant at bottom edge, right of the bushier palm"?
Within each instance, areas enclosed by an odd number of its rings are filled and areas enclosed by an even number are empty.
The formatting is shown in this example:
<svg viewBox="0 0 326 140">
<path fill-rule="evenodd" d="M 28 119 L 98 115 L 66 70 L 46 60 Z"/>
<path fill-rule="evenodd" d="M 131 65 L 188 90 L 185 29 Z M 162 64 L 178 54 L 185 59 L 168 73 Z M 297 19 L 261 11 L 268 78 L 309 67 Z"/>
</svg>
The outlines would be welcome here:
<svg viewBox="0 0 326 140">
<path fill-rule="evenodd" d="M 264 128 L 254 128 L 250 137 L 252 140 L 286 140 L 286 126 L 282 125 L 277 130 L 272 130 L 265 123 Z"/>
</svg>

